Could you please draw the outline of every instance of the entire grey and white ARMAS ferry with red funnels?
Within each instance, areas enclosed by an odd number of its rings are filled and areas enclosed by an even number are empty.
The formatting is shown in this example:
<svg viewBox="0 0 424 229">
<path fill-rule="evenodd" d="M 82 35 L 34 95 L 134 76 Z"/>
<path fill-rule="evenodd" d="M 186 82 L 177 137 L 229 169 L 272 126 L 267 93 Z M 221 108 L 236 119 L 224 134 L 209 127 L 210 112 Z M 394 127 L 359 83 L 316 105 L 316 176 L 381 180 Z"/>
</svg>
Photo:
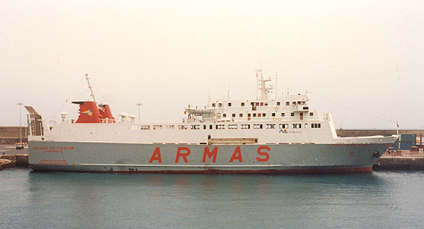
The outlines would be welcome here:
<svg viewBox="0 0 424 229">
<path fill-rule="evenodd" d="M 273 86 L 257 70 L 257 98 L 208 98 L 185 107 L 179 122 L 137 122 L 114 117 L 93 99 L 76 121 L 61 122 L 28 110 L 28 154 L 35 171 L 278 174 L 372 172 L 398 138 L 339 137 L 331 114 L 308 105 L 308 93 L 269 98 Z"/>
</svg>

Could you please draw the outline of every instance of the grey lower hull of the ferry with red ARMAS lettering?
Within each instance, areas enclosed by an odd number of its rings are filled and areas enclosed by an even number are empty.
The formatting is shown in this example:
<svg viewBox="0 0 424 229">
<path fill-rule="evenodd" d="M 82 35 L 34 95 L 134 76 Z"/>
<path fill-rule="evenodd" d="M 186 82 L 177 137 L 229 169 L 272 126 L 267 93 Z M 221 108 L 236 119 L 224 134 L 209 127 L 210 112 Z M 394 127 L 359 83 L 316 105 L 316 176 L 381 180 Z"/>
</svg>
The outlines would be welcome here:
<svg viewBox="0 0 424 229">
<path fill-rule="evenodd" d="M 29 162 L 37 171 L 372 172 L 372 165 L 389 145 L 391 143 L 208 146 L 32 141 Z"/>
</svg>

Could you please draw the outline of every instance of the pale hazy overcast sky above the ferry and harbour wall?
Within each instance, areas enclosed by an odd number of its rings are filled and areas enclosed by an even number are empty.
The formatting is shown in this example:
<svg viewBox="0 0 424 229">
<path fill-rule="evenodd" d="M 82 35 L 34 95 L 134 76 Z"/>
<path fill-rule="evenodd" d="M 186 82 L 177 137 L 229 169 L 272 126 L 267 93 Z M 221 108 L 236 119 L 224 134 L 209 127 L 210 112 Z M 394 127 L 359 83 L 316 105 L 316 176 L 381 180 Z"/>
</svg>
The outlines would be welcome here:
<svg viewBox="0 0 424 229">
<path fill-rule="evenodd" d="M 115 115 L 180 120 L 208 95 L 256 98 L 261 67 L 336 128 L 424 129 L 423 16 L 424 1 L 0 0 L 0 126 L 18 102 L 77 117 L 84 74 Z"/>
</svg>

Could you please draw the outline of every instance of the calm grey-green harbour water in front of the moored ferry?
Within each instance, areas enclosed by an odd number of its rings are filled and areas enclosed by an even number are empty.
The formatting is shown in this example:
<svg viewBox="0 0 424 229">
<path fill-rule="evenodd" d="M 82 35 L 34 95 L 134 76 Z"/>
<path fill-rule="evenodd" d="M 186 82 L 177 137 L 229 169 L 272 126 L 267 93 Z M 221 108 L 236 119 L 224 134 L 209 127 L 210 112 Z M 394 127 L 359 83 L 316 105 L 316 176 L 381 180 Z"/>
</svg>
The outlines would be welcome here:
<svg viewBox="0 0 424 229">
<path fill-rule="evenodd" d="M 0 171 L 0 228 L 424 228 L 424 172 Z"/>
</svg>

